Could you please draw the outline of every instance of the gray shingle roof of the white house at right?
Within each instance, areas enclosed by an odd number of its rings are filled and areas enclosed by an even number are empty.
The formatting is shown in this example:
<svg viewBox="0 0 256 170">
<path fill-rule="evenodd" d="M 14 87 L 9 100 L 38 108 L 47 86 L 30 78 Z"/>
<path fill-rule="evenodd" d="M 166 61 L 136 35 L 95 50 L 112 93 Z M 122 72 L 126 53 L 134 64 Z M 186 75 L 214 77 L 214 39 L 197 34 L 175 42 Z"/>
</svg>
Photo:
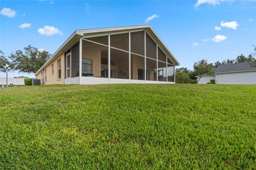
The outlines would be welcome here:
<svg viewBox="0 0 256 170">
<path fill-rule="evenodd" d="M 239 71 L 256 71 L 256 67 L 252 66 L 252 63 L 236 63 L 236 64 L 222 64 L 218 66 L 214 72 L 215 73 L 225 73 L 225 72 L 239 72 Z"/>
</svg>

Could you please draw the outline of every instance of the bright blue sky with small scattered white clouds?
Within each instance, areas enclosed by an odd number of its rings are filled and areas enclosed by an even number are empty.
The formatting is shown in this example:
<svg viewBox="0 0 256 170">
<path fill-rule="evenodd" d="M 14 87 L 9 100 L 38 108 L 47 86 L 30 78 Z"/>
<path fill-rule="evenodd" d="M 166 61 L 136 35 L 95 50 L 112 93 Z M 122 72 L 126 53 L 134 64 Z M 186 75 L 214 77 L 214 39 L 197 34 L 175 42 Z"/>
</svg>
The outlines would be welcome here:
<svg viewBox="0 0 256 170">
<path fill-rule="evenodd" d="M 150 24 L 179 67 L 188 69 L 201 59 L 247 56 L 256 45 L 256 1 L 1 0 L 0 10 L 0 49 L 6 55 L 29 44 L 53 54 L 76 29 L 141 24 Z"/>
</svg>

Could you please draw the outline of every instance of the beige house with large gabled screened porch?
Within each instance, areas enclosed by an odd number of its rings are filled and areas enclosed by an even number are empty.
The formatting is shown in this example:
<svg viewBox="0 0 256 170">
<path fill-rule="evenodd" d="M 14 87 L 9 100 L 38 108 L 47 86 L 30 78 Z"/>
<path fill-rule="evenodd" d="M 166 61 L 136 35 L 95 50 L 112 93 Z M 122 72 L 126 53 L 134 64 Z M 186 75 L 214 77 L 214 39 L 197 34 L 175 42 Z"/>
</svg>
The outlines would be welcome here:
<svg viewBox="0 0 256 170">
<path fill-rule="evenodd" d="M 150 25 L 76 30 L 37 72 L 42 84 L 174 83 L 177 59 Z"/>
</svg>

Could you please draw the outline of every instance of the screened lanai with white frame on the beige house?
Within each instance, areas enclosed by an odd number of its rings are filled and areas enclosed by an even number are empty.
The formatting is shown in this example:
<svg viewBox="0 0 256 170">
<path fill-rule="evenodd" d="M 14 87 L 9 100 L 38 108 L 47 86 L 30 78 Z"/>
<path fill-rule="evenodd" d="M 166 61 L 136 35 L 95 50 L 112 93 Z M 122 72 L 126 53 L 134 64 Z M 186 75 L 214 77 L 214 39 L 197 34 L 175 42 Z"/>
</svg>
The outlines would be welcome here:
<svg viewBox="0 0 256 170">
<path fill-rule="evenodd" d="M 84 36 L 65 66 L 67 84 L 174 82 L 173 62 L 145 30 Z"/>
</svg>

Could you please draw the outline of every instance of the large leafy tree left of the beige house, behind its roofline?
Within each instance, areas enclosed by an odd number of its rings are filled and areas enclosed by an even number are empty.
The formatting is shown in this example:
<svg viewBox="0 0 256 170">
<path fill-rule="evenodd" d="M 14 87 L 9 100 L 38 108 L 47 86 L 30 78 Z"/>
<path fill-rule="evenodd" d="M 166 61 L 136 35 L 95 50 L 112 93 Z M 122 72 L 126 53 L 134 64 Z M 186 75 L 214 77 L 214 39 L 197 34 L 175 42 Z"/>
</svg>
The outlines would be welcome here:
<svg viewBox="0 0 256 170">
<path fill-rule="evenodd" d="M 36 73 L 50 58 L 49 52 L 38 50 L 36 47 L 27 46 L 22 50 L 11 53 L 13 69 L 19 72 Z"/>
</svg>

